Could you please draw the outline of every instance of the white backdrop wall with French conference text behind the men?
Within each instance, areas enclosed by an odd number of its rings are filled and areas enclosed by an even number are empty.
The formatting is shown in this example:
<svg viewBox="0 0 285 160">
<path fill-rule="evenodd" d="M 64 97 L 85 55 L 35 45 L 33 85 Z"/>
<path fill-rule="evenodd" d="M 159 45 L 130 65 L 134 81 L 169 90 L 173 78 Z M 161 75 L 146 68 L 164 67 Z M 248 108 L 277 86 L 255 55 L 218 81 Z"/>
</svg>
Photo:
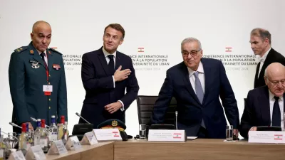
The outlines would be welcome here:
<svg viewBox="0 0 285 160">
<path fill-rule="evenodd" d="M 135 65 L 140 85 L 139 95 L 157 95 L 165 71 L 182 61 L 181 41 L 189 36 L 202 42 L 204 55 L 253 55 L 249 44 L 252 28 L 266 28 L 272 35 L 272 46 L 285 53 L 285 7 L 279 0 L 178 0 L 178 1 L 0 1 L 0 127 L 11 132 L 12 102 L 9 92 L 8 66 L 14 49 L 27 46 L 34 22 L 48 21 L 53 30 L 50 47 L 56 47 L 66 60 L 68 85 L 68 128 L 78 122 L 85 90 L 81 82 L 83 53 L 103 45 L 103 29 L 109 23 L 125 28 L 125 41 L 118 48 L 135 62 L 166 60 L 164 65 Z M 226 52 L 227 48 L 231 52 Z M 143 48 L 143 49 L 140 49 Z M 141 52 L 142 51 L 142 52 Z M 138 58 L 163 55 L 165 58 Z M 136 58 L 135 58 L 136 56 Z M 77 57 L 77 58 L 70 58 Z M 256 58 L 221 58 L 236 95 L 239 114 L 243 98 L 253 88 Z M 80 60 L 79 62 L 76 60 Z M 253 60 L 253 62 L 251 62 Z M 239 63 L 239 64 L 237 64 Z M 128 134 L 138 134 L 136 102 L 126 112 Z"/>
</svg>

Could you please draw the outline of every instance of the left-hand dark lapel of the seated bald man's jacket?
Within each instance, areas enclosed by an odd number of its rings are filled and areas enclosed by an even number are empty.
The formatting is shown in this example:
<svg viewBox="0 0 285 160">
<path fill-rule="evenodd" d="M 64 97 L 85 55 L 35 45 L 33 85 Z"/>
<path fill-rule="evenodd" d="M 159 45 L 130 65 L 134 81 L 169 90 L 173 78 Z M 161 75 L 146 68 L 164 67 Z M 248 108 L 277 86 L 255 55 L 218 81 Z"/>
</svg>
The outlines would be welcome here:
<svg viewBox="0 0 285 160">
<path fill-rule="evenodd" d="M 270 126 L 271 118 L 270 118 L 270 103 L 269 103 L 269 91 L 268 87 L 264 87 L 262 90 L 263 93 L 259 95 L 259 106 L 261 117 L 264 120 L 264 123 Z"/>
</svg>

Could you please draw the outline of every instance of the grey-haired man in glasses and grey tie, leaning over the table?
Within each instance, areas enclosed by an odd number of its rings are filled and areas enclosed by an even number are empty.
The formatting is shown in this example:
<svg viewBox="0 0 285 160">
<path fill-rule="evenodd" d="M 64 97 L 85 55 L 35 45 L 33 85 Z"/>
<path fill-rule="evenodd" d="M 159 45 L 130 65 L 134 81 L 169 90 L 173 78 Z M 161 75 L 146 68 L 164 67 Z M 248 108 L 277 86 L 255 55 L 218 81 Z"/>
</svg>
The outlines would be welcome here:
<svg viewBox="0 0 285 160">
<path fill-rule="evenodd" d="M 183 62 L 167 70 L 152 113 L 152 123 L 164 122 L 172 97 L 177 100 L 177 128 L 187 136 L 225 138 L 227 121 L 238 135 L 237 100 L 220 60 L 202 58 L 201 43 L 185 38 L 181 43 Z M 222 100 L 219 101 L 219 97 Z M 223 110 L 224 107 L 224 110 Z"/>
</svg>

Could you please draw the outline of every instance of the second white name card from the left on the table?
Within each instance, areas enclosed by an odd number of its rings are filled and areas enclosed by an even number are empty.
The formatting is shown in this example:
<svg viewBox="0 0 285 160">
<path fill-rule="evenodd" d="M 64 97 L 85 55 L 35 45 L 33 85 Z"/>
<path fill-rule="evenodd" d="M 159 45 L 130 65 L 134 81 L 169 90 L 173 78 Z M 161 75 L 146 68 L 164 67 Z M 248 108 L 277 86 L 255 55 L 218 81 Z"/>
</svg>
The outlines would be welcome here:
<svg viewBox="0 0 285 160">
<path fill-rule="evenodd" d="M 41 146 L 31 146 L 25 156 L 26 160 L 45 160 L 46 155 L 43 153 Z"/>
</svg>

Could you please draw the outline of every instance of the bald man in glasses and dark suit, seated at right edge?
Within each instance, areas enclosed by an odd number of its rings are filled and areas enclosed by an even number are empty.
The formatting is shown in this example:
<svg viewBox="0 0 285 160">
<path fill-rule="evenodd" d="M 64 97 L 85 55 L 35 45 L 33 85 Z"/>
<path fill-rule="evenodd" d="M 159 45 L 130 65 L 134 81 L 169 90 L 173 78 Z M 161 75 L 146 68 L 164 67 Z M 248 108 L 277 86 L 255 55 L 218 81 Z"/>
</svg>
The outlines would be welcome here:
<svg viewBox="0 0 285 160">
<path fill-rule="evenodd" d="M 249 131 L 258 126 L 277 126 L 284 129 L 285 67 L 271 63 L 265 70 L 266 85 L 250 90 L 244 107 L 240 134 L 248 138 Z"/>
</svg>

